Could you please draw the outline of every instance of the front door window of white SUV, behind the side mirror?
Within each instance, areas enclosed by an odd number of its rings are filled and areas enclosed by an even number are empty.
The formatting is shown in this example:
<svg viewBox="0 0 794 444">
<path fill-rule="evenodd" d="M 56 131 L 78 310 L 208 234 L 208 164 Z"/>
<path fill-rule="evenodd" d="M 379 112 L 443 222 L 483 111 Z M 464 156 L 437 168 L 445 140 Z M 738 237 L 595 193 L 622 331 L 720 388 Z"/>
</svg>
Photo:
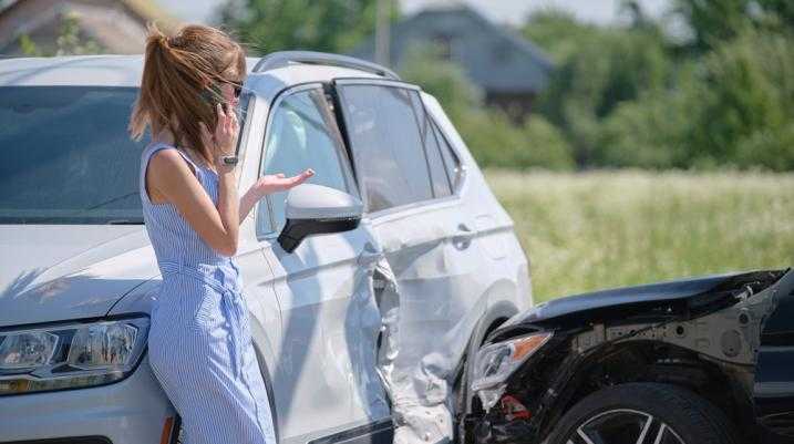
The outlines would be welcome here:
<svg viewBox="0 0 794 444">
<path fill-rule="evenodd" d="M 285 97 L 270 117 L 265 135 L 261 175 L 299 174 L 314 169 L 308 180 L 346 193 L 354 188 L 346 167 L 341 134 L 333 111 L 321 89 L 300 91 Z M 279 231 L 286 223 L 287 192 L 274 193 L 257 206 L 257 235 Z"/>
</svg>

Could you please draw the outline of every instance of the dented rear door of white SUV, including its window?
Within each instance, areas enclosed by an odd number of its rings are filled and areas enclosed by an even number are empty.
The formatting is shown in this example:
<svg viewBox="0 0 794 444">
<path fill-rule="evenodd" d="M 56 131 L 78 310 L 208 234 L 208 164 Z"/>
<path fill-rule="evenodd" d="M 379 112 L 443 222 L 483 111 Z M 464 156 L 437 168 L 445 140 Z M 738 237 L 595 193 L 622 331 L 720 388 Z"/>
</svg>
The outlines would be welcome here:
<svg viewBox="0 0 794 444">
<path fill-rule="evenodd" d="M 378 80 L 336 86 L 367 215 L 400 289 L 396 390 L 437 405 L 451 393 L 446 383 L 489 285 L 475 221 L 461 207 L 460 164 L 440 151 L 417 87 Z"/>
</svg>

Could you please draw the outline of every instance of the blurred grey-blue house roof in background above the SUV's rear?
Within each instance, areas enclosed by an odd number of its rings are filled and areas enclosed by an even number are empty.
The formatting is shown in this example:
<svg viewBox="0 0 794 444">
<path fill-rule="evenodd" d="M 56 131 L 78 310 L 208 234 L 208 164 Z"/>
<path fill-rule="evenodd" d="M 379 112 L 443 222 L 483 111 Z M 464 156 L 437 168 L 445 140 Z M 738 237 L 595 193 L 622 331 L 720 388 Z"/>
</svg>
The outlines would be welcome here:
<svg viewBox="0 0 794 444">
<path fill-rule="evenodd" d="M 554 70 L 550 59 L 535 44 L 457 2 L 436 4 L 395 23 L 390 64 L 399 70 L 410 47 L 433 41 L 447 42 L 451 60 L 488 92 L 537 93 Z M 374 60 L 374 38 L 352 55 Z"/>
</svg>

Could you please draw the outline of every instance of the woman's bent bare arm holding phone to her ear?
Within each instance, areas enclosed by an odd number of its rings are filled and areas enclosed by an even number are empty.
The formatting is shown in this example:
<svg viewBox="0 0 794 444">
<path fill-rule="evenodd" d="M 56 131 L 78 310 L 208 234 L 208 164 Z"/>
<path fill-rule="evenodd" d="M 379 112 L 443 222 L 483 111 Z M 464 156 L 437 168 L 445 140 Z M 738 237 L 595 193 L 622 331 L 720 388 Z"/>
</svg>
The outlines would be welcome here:
<svg viewBox="0 0 794 444">
<path fill-rule="evenodd" d="M 234 153 L 238 131 L 234 113 L 226 115 L 220 105 L 217 113 L 218 125 L 214 136 L 209 136 L 205 130 L 205 140 L 214 138 L 214 159 Z M 221 162 L 216 162 L 216 169 L 219 177 L 217 207 L 185 159 L 174 149 L 164 149 L 152 156 L 147 176 L 151 187 L 176 207 L 210 248 L 224 256 L 234 256 L 237 252 L 239 231 L 237 173 L 234 167 Z"/>
</svg>

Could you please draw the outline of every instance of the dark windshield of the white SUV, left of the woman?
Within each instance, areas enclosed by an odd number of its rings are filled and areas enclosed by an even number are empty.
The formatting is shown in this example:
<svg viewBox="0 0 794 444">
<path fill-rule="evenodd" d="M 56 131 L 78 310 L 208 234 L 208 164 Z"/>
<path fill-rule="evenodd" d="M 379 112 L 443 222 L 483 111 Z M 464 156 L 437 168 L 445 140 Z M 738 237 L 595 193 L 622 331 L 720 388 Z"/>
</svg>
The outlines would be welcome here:
<svg viewBox="0 0 794 444">
<path fill-rule="evenodd" d="M 0 86 L 0 224 L 143 224 L 136 87 Z"/>
</svg>

